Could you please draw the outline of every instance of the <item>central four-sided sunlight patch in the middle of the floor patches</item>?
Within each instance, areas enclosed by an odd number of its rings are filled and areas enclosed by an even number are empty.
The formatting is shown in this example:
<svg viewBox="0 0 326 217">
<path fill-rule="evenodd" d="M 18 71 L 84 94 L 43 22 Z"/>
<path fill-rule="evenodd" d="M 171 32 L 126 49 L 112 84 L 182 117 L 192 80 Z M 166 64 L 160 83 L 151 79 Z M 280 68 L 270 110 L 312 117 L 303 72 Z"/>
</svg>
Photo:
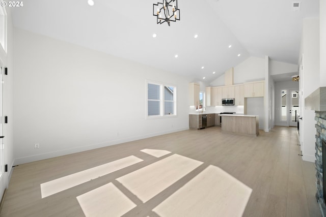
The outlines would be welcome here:
<svg viewBox="0 0 326 217">
<path fill-rule="evenodd" d="M 201 164 L 203 162 L 173 154 L 116 180 L 145 203 Z"/>
</svg>

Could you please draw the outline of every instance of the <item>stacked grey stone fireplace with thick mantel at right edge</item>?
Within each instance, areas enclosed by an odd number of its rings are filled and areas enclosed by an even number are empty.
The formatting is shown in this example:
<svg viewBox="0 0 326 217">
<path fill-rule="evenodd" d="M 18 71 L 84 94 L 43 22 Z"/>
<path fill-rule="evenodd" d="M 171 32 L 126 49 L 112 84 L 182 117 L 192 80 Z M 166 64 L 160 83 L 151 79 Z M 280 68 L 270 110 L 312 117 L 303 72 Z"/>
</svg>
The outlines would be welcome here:
<svg viewBox="0 0 326 217">
<path fill-rule="evenodd" d="M 326 195 L 323 194 L 323 166 L 322 141 L 326 142 L 326 87 L 319 87 L 305 99 L 305 109 L 315 111 L 316 120 L 316 142 L 315 142 L 315 168 L 316 168 L 316 199 L 318 201 L 322 216 L 326 216 Z M 324 156 L 325 157 L 325 156 Z M 326 158 L 325 158 L 326 159 Z M 324 162 L 326 166 L 326 162 Z M 326 183 L 325 183 L 326 188 Z"/>
</svg>

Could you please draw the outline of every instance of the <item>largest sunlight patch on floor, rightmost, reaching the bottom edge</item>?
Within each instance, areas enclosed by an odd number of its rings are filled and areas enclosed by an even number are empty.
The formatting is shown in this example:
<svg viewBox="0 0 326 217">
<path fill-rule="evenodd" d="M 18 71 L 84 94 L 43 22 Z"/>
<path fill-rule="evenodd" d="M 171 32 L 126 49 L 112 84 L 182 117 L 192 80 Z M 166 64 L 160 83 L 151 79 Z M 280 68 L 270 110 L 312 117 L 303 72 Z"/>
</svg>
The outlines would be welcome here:
<svg viewBox="0 0 326 217">
<path fill-rule="evenodd" d="M 242 216 L 252 189 L 208 166 L 153 211 L 159 216 Z"/>
</svg>

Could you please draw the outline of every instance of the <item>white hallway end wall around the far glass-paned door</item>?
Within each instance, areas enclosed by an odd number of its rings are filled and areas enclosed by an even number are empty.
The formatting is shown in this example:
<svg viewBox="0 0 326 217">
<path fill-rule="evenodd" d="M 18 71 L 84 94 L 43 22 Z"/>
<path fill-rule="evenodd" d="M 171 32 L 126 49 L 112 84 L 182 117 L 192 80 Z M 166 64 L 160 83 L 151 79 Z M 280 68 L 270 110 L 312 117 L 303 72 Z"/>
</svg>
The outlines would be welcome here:
<svg viewBox="0 0 326 217">
<path fill-rule="evenodd" d="M 287 121 L 281 120 L 281 91 L 287 90 L 289 96 L 289 89 L 299 89 L 299 82 L 294 81 L 279 81 L 275 83 L 275 125 L 288 126 Z M 288 100 L 289 101 L 289 100 Z"/>
</svg>

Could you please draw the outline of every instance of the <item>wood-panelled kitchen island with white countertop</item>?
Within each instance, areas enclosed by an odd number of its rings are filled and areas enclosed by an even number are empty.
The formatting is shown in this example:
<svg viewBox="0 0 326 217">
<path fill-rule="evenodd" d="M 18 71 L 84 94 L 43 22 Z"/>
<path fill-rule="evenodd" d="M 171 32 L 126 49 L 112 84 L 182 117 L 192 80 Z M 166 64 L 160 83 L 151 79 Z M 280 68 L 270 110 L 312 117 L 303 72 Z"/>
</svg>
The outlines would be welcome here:
<svg viewBox="0 0 326 217">
<path fill-rule="evenodd" d="M 222 132 L 258 136 L 258 115 L 220 114 Z"/>
</svg>

